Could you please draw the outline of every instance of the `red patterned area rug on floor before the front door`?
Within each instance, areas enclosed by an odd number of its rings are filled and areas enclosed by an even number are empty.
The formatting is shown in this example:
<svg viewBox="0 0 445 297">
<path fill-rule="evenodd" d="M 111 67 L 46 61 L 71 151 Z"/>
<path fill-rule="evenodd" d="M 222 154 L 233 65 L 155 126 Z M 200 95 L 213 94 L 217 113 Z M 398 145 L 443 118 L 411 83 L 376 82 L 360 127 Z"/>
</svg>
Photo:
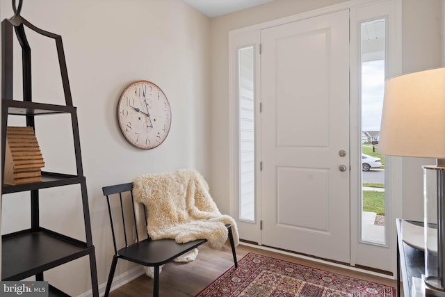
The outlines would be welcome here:
<svg viewBox="0 0 445 297">
<path fill-rule="evenodd" d="M 346 275 L 249 253 L 197 297 L 396 296 L 396 289 Z"/>
</svg>

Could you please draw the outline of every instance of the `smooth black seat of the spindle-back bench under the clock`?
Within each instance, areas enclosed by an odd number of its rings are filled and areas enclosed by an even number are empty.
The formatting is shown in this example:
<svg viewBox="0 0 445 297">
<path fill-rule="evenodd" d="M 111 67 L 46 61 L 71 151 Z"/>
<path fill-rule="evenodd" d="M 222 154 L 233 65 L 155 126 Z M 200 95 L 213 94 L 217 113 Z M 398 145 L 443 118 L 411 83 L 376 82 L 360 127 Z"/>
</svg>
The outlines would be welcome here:
<svg viewBox="0 0 445 297">
<path fill-rule="evenodd" d="M 159 266 L 197 248 L 207 239 L 176 243 L 174 239 L 148 240 L 134 243 L 118 251 L 118 257 L 143 266 Z"/>
</svg>

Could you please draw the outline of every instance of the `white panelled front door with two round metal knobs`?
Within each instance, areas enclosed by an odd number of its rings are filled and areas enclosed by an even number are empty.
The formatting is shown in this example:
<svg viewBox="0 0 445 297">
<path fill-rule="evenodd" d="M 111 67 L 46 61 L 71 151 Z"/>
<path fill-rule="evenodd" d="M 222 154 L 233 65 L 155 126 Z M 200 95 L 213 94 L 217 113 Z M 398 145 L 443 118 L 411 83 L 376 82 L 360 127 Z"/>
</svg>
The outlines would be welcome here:
<svg viewBox="0 0 445 297">
<path fill-rule="evenodd" d="M 349 12 L 261 30 L 261 49 L 261 243 L 349 263 Z"/>
</svg>

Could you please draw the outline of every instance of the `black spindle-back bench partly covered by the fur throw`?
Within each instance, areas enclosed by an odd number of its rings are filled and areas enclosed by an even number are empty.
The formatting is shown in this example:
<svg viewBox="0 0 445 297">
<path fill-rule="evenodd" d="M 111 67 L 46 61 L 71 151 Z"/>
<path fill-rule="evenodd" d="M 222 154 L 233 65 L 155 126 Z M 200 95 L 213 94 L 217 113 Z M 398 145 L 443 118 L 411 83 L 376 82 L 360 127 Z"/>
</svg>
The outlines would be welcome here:
<svg viewBox="0 0 445 297">
<path fill-rule="evenodd" d="M 159 239 L 152 240 L 147 233 L 147 239 L 139 239 L 138 232 L 136 231 L 136 241 L 134 243 L 128 243 L 127 236 L 128 230 L 130 230 L 130 234 L 132 233 L 132 227 L 127 228 L 126 220 L 124 214 L 126 204 L 124 203 L 124 199 L 131 199 L 131 208 L 133 214 L 133 222 L 131 225 L 137 230 L 138 224 L 136 223 L 136 211 L 134 208 L 134 200 L 133 200 L 133 183 L 127 184 L 116 184 L 114 186 L 104 186 L 102 187 L 102 191 L 106 196 L 106 200 L 108 203 L 108 213 L 110 215 L 110 223 L 111 223 L 111 232 L 113 234 L 113 243 L 115 255 L 113 256 L 113 262 L 111 263 L 110 274 L 108 275 L 108 282 L 106 283 L 105 289 L 105 297 L 108 296 L 111 289 L 111 282 L 113 282 L 113 277 L 116 269 L 116 265 L 118 264 L 118 259 L 125 259 L 130 262 L 134 262 L 143 266 L 151 266 L 154 267 L 154 284 L 153 284 L 153 296 L 159 296 L 159 267 L 163 264 L 171 262 L 173 259 L 184 255 L 186 252 L 193 250 L 193 248 L 197 248 L 202 245 L 202 243 L 207 242 L 207 239 L 198 239 L 195 241 L 190 241 L 188 243 L 176 243 L 174 239 Z M 128 193 L 126 193 L 128 192 Z M 126 193 L 126 194 L 124 194 Z M 123 195 L 124 194 L 124 195 Z M 112 208 L 110 203 L 110 198 L 115 197 L 120 200 L 120 216 L 122 216 L 122 227 L 125 238 L 125 246 L 124 248 L 120 248 L 118 250 L 118 245 L 116 243 L 116 235 L 115 235 L 115 227 L 113 223 L 113 215 Z M 128 204 L 128 203 L 127 203 Z M 129 206 L 128 206 L 129 207 Z M 144 207 L 144 214 L 145 205 Z M 145 232 L 147 232 L 147 217 L 145 216 Z M 226 225 L 227 230 L 229 232 L 229 241 L 232 246 L 232 255 L 234 257 L 235 267 L 238 267 L 238 262 L 236 260 L 236 252 L 234 245 L 234 238 L 232 234 L 232 225 Z"/>
</svg>

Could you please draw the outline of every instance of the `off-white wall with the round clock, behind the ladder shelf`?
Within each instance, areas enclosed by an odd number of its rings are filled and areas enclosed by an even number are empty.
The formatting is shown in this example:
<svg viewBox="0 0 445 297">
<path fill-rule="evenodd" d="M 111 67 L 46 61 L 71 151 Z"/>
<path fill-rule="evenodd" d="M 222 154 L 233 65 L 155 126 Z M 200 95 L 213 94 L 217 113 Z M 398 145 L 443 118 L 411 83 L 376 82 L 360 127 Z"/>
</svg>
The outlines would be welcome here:
<svg viewBox="0 0 445 297">
<path fill-rule="evenodd" d="M 11 1 L 1 0 L 0 11 L 1 19 L 12 17 Z M 210 19 L 181 0 L 24 1 L 22 16 L 63 38 L 78 110 L 99 284 L 103 284 L 113 248 L 102 186 L 178 168 L 196 168 L 204 177 L 209 174 Z M 31 33 L 29 39 L 35 101 L 63 104 L 54 41 Z M 16 70 L 20 56 L 15 55 Z M 120 94 L 140 79 L 160 86 L 172 109 L 170 134 L 154 150 L 136 149 L 118 127 Z M 19 84 L 16 87 L 19 99 Z M 44 170 L 73 172 L 69 118 L 39 118 L 36 125 Z M 79 194 L 78 186 L 44 191 L 42 224 L 84 239 Z M 3 234 L 17 226 L 29 227 L 28 201 L 27 195 L 3 196 Z M 83 294 L 90 289 L 87 260 L 84 257 L 46 275 L 68 294 Z M 132 267 L 122 262 L 116 275 Z"/>
</svg>

